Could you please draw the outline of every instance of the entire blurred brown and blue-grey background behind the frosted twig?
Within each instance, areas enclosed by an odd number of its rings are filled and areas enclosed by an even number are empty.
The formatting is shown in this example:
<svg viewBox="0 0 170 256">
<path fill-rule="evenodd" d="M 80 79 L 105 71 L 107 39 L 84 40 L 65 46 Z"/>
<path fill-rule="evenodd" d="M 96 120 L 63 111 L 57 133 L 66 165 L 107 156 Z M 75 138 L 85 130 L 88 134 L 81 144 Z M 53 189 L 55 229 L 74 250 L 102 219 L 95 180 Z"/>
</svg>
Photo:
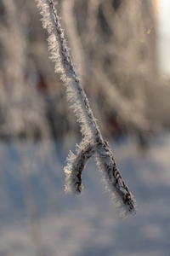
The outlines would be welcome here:
<svg viewBox="0 0 170 256">
<path fill-rule="evenodd" d="M 94 160 L 65 195 L 81 140 L 35 1 L 0 2 L 0 255 L 160 256 L 170 250 L 169 0 L 59 0 L 71 58 L 138 204 L 122 221 Z"/>
</svg>

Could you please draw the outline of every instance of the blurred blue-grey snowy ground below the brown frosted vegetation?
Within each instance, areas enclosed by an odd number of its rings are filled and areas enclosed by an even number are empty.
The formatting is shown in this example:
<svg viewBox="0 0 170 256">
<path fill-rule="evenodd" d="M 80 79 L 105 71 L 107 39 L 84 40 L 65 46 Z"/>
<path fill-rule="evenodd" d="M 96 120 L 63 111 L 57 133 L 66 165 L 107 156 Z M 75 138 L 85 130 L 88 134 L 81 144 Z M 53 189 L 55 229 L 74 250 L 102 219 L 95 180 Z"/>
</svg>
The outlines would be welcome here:
<svg viewBox="0 0 170 256">
<path fill-rule="evenodd" d="M 170 252 L 170 133 L 139 154 L 129 139 L 111 143 L 138 212 L 122 220 L 94 160 L 84 193 L 65 195 L 68 148 L 0 143 L 1 256 L 167 256 Z M 59 150 L 59 148 L 61 150 Z"/>
</svg>

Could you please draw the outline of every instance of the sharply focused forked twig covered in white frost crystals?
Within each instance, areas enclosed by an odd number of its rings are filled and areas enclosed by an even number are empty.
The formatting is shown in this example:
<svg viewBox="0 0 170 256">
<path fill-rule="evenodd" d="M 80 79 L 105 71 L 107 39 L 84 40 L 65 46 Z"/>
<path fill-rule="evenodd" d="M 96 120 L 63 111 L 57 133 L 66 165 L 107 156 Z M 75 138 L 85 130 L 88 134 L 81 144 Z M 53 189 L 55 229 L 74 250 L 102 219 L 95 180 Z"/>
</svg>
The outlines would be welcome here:
<svg viewBox="0 0 170 256">
<path fill-rule="evenodd" d="M 55 62 L 55 72 L 66 87 L 67 98 L 72 102 L 71 108 L 81 124 L 82 143 L 77 145 L 77 155 L 70 152 L 65 166 L 65 192 L 80 194 L 82 192 L 82 170 L 88 159 L 94 154 L 99 171 L 103 174 L 106 187 L 116 196 L 116 202 L 123 207 L 124 216 L 135 213 L 135 201 L 116 166 L 109 143 L 103 139 L 94 114 L 89 106 L 88 98 L 77 76 L 69 49 L 65 43 L 64 32 L 53 0 L 36 0 L 42 15 L 42 26 L 48 31 L 48 49 Z"/>
</svg>

